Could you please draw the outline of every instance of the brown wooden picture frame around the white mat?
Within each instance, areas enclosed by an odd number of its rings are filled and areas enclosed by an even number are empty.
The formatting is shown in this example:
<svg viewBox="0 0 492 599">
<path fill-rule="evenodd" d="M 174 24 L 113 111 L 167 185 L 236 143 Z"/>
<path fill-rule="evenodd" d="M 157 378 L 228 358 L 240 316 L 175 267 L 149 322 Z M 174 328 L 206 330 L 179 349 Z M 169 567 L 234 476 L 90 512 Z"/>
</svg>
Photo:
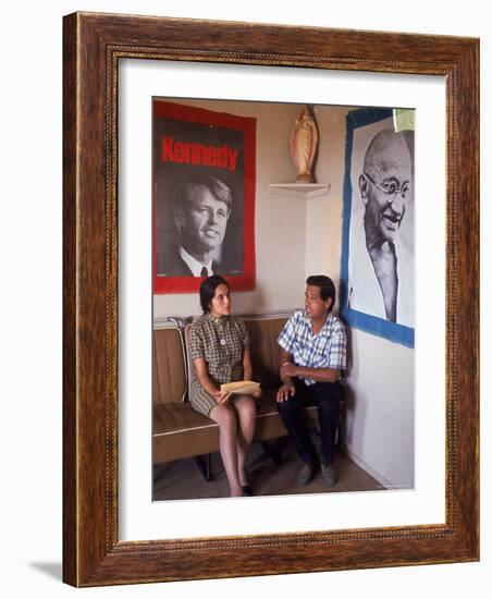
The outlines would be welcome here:
<svg viewBox="0 0 492 599">
<path fill-rule="evenodd" d="M 64 17 L 63 49 L 63 579 L 95 586 L 478 560 L 479 41 L 75 13 Z M 445 77 L 444 524 L 119 540 L 116 107 L 119 61 L 132 58 Z"/>
</svg>

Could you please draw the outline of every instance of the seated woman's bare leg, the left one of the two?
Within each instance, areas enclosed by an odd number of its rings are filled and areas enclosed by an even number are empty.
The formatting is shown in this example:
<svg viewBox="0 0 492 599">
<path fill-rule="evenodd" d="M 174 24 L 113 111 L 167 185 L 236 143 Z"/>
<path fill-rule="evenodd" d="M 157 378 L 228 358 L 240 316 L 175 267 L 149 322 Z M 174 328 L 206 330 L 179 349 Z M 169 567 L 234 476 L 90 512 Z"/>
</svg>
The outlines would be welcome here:
<svg viewBox="0 0 492 599">
<path fill-rule="evenodd" d="M 227 475 L 231 497 L 242 497 L 243 489 L 237 470 L 237 419 L 232 405 L 216 405 L 209 417 L 219 425 L 220 454 Z"/>
</svg>

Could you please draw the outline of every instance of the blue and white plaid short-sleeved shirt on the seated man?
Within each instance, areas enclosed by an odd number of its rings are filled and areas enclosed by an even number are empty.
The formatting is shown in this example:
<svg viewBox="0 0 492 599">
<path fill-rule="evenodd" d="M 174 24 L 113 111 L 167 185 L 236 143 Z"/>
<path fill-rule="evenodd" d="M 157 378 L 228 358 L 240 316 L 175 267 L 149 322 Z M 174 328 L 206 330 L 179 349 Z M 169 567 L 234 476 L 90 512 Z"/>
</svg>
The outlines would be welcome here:
<svg viewBox="0 0 492 599">
<path fill-rule="evenodd" d="M 331 313 L 321 330 L 313 334 L 311 319 L 304 310 L 296 310 L 276 341 L 281 347 L 292 354 L 296 366 L 345 370 L 347 354 L 345 328 L 342 321 Z M 306 384 L 316 382 L 312 379 L 304 379 L 304 381 Z"/>
</svg>

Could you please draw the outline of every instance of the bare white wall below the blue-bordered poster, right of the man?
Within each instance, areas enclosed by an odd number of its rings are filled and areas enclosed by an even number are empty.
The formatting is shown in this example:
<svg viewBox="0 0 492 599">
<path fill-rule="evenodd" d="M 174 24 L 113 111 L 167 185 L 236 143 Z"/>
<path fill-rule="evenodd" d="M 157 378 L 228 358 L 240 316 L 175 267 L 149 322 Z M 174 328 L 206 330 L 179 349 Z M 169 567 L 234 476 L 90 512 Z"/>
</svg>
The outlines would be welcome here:
<svg viewBox="0 0 492 599">
<path fill-rule="evenodd" d="M 349 334 L 348 454 L 385 487 L 413 488 L 414 350 L 355 329 Z"/>
</svg>

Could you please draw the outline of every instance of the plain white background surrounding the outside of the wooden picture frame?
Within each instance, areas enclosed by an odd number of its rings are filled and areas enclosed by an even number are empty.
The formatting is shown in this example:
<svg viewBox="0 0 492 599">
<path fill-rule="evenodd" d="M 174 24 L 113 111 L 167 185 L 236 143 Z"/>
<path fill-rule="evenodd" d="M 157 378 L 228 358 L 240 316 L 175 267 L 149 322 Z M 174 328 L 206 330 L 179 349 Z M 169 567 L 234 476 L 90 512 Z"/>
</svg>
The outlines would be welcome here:
<svg viewBox="0 0 492 599">
<path fill-rule="evenodd" d="M 481 561 L 479 563 L 196 580 L 76 590 L 61 577 L 61 17 L 76 10 L 481 36 L 481 94 L 491 97 L 488 2 L 353 0 L 328 3 L 208 0 L 53 0 L 3 5 L 0 37 L 2 201 L 0 296 L 2 376 L 2 588 L 5 597 L 246 599 L 327 594 L 414 599 L 489 597 L 492 579 L 491 311 L 482 311 Z M 21 28 L 22 27 L 22 28 Z M 22 32 L 22 34 L 21 34 Z M 491 293 L 491 114 L 482 122 L 482 306 Z M 33 129 L 35 126 L 35 130 Z M 33 132 L 36 132 L 34 135 Z M 26 178 L 26 147 L 29 155 Z M 41 149 L 42 148 L 42 149 Z M 34 259 L 35 258 L 35 259 Z M 488 590 L 489 589 L 489 590 Z"/>
</svg>

